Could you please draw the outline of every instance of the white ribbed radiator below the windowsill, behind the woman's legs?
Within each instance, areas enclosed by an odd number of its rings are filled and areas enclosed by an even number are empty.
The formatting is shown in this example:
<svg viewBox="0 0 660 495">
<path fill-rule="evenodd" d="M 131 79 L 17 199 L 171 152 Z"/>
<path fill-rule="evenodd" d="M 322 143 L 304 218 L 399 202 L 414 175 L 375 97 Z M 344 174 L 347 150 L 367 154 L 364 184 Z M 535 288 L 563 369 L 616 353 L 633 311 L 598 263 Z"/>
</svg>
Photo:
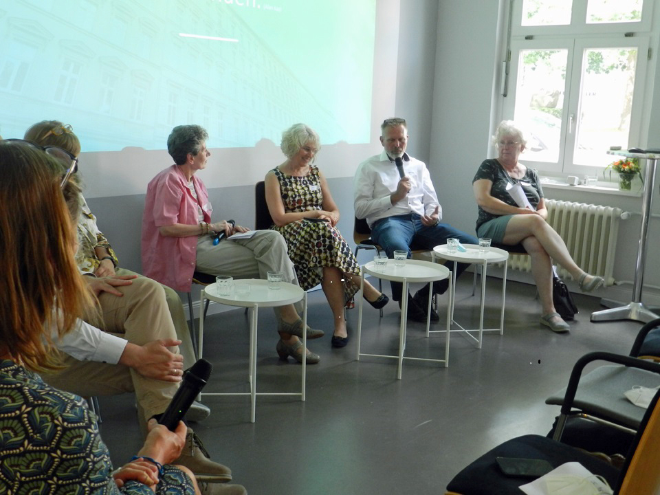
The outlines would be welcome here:
<svg viewBox="0 0 660 495">
<path fill-rule="evenodd" d="M 613 285 L 621 208 L 546 199 L 548 223 L 560 234 L 577 266 Z M 509 268 L 531 272 L 529 256 L 511 254 Z M 572 278 L 558 265 L 562 278 Z"/>
</svg>

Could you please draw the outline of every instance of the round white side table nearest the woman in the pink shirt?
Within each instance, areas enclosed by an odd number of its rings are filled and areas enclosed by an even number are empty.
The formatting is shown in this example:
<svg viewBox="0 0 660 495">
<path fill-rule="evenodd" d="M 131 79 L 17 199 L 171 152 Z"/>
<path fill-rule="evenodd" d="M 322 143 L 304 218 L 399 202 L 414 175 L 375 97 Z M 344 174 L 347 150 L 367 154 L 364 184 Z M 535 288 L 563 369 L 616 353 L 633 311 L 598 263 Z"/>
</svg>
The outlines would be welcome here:
<svg viewBox="0 0 660 495">
<path fill-rule="evenodd" d="M 236 294 L 235 283 L 249 283 L 250 294 L 239 296 Z M 303 360 L 303 372 L 300 386 L 300 393 L 257 393 L 256 391 L 256 327 L 258 320 L 258 309 L 261 307 L 285 306 L 297 303 L 303 300 L 303 328 L 307 328 L 307 292 L 286 282 L 280 282 L 280 289 L 272 290 L 268 287 L 268 281 L 241 279 L 234 281 L 234 289 L 229 296 L 219 296 L 216 283 L 207 285 L 201 290 L 201 307 L 204 307 L 206 299 L 215 301 L 228 306 L 246 307 L 250 309 L 250 371 L 248 372 L 248 382 L 250 383 L 250 392 L 245 393 L 201 393 L 203 395 L 250 395 L 252 405 L 250 421 L 254 423 L 256 415 L 256 396 L 257 395 L 300 395 L 300 400 L 305 401 L 305 379 L 307 375 L 307 362 Z M 203 353 L 204 319 L 199 319 L 199 358 Z M 303 349 L 307 349 L 307 332 L 303 332 Z"/>
</svg>

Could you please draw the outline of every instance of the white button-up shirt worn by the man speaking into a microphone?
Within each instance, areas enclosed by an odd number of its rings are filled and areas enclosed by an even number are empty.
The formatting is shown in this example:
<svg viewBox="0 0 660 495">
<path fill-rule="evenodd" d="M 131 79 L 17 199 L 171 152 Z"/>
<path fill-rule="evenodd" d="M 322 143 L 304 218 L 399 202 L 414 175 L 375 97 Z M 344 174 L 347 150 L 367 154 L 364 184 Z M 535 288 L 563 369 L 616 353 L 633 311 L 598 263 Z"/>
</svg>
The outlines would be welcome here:
<svg viewBox="0 0 660 495">
<path fill-rule="evenodd" d="M 366 159 L 358 167 L 353 183 L 355 216 L 364 219 L 371 227 L 377 220 L 396 215 L 417 213 L 429 215 L 438 207 L 438 219 L 442 208 L 424 162 L 404 153 L 404 172 L 410 178 L 408 195 L 392 204 L 390 195 L 397 190 L 399 172 L 385 150 L 380 155 Z"/>
</svg>

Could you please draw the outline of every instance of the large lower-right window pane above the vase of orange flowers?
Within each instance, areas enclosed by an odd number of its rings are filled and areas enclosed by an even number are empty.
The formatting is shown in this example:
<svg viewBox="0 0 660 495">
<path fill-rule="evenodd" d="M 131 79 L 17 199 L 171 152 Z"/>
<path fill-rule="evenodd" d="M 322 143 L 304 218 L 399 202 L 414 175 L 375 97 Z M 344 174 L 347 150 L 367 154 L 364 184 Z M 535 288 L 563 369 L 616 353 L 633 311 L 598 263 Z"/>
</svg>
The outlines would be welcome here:
<svg viewBox="0 0 660 495">
<path fill-rule="evenodd" d="M 573 162 L 604 166 L 610 146 L 628 148 L 637 48 L 584 50 Z"/>
</svg>

